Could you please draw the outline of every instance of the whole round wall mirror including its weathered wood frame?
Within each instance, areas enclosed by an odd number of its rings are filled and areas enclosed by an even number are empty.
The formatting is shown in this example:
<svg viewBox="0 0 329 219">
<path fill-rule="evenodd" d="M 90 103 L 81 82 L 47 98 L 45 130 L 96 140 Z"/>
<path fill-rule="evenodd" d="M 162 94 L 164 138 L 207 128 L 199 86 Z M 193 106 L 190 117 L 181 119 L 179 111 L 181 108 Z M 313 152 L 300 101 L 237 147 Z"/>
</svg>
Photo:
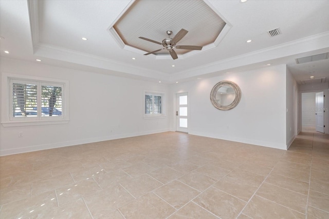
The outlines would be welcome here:
<svg viewBox="0 0 329 219">
<path fill-rule="evenodd" d="M 234 82 L 218 82 L 211 90 L 210 100 L 212 105 L 220 110 L 230 110 L 239 104 L 241 90 Z"/>
</svg>

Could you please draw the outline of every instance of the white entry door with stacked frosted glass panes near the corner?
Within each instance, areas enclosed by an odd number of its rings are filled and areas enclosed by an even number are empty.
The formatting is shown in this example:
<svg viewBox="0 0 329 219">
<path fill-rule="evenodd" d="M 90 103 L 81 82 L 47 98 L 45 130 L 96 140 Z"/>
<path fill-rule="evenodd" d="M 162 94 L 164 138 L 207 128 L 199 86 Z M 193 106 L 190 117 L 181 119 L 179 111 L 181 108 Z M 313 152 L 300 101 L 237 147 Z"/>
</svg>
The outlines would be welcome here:
<svg viewBox="0 0 329 219">
<path fill-rule="evenodd" d="M 188 132 L 188 94 L 177 93 L 176 94 L 176 124 L 177 131 Z"/>
</svg>

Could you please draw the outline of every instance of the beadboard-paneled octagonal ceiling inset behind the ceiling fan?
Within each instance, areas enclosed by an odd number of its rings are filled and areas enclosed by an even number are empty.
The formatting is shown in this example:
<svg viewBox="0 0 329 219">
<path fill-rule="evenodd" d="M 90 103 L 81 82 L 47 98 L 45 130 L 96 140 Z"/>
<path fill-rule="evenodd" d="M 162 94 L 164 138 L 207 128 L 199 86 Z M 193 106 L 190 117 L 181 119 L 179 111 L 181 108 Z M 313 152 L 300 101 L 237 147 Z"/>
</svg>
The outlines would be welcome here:
<svg viewBox="0 0 329 219">
<path fill-rule="evenodd" d="M 127 9 L 113 28 L 125 45 L 150 52 L 161 49 L 157 45 L 139 36 L 162 42 L 167 38 L 167 30 L 173 31 L 171 37 L 182 28 L 188 30 L 187 35 L 179 41 L 179 45 L 206 46 L 214 43 L 226 23 L 204 1 L 147 1 L 137 0 Z M 191 50 L 177 49 L 177 54 L 185 54 Z M 157 55 L 169 54 L 161 50 Z"/>
</svg>

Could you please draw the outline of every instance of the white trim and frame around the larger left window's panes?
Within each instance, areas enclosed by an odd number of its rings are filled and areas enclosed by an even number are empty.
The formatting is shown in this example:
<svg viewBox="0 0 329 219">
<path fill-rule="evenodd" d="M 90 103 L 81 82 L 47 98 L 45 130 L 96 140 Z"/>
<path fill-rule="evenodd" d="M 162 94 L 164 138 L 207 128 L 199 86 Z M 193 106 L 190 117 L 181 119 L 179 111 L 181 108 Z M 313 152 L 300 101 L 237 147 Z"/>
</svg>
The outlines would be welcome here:
<svg viewBox="0 0 329 219">
<path fill-rule="evenodd" d="M 10 108 L 11 108 L 11 94 L 10 94 L 10 80 L 22 80 L 29 82 L 38 82 L 40 84 L 61 84 L 63 85 L 62 90 L 62 113 L 63 116 L 52 117 L 52 118 L 42 118 L 38 120 L 33 120 L 29 118 L 28 120 L 11 120 Z M 69 82 L 63 79 L 39 77 L 23 74 L 13 74 L 13 73 L 1 73 L 1 124 L 4 127 L 13 126 L 31 126 L 31 125 L 50 125 L 50 124 L 65 124 L 69 122 Z"/>
</svg>

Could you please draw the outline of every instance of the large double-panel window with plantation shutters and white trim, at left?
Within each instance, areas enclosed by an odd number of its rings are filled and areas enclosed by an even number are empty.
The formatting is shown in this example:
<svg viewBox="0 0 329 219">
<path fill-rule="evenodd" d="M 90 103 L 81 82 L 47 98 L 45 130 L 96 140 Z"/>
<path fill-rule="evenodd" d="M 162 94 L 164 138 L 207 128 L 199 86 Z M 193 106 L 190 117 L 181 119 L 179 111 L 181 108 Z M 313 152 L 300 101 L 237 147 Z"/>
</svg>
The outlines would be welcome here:
<svg viewBox="0 0 329 219">
<path fill-rule="evenodd" d="M 4 82 L 7 82 L 4 84 Z M 25 75 L 2 76 L 4 126 L 53 124 L 68 121 L 68 82 Z M 7 98 L 6 98 L 7 96 Z M 9 98 L 8 98 L 9 97 Z"/>
</svg>

